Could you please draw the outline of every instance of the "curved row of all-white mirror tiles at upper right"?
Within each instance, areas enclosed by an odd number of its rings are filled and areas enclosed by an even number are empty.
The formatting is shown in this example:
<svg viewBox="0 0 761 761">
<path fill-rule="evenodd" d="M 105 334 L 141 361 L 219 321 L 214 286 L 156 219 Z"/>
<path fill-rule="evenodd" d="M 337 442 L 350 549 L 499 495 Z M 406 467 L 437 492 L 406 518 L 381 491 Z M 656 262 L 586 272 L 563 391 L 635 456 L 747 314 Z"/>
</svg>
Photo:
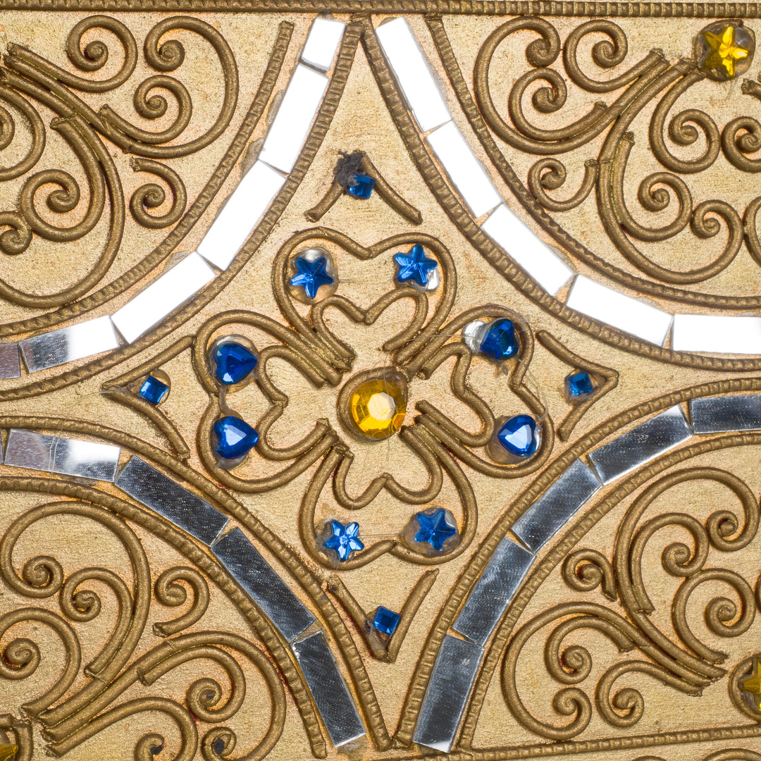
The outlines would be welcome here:
<svg viewBox="0 0 761 761">
<path fill-rule="evenodd" d="M 663 346 L 670 335 L 674 351 L 761 353 L 761 317 L 672 314 L 576 273 L 508 208 L 454 123 L 406 18 L 380 24 L 376 34 L 400 93 L 455 191 L 473 218 L 488 215 L 479 223 L 481 230 L 547 293 L 562 299 L 560 291 L 572 281 L 566 306 L 655 345 Z"/>
</svg>

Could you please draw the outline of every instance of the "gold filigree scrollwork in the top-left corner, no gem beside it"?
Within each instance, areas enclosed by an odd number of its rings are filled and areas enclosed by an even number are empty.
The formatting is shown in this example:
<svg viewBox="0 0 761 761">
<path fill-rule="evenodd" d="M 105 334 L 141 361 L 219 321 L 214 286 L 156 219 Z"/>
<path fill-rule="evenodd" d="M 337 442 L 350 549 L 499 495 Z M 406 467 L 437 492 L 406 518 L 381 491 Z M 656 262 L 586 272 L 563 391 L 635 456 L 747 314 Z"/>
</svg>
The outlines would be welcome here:
<svg viewBox="0 0 761 761">
<path fill-rule="evenodd" d="M 75 284 L 56 293 L 40 295 L 0 281 L 0 296 L 25 307 L 39 309 L 70 304 L 102 282 L 116 259 L 124 232 L 125 199 L 116 164 L 103 139 L 134 154 L 137 157 L 132 161 L 135 171 L 151 172 L 167 183 L 173 199 L 168 212 L 161 216 L 147 212 L 147 209 L 158 208 L 166 198 L 164 189 L 154 183 L 141 186 L 135 191 L 130 209 L 135 221 L 145 228 L 169 227 L 179 221 L 185 211 L 186 190 L 182 179 L 173 169 L 155 160 L 185 156 L 210 145 L 227 128 L 237 104 L 237 65 L 224 37 L 201 19 L 174 16 L 155 24 L 145 38 L 145 60 L 161 74 L 151 75 L 142 81 L 133 98 L 139 116 L 158 119 L 167 113 L 168 103 L 164 95 L 155 91 L 170 92 L 177 102 L 178 113 L 174 123 L 167 129 L 150 132 L 134 126 L 108 105 L 103 105 L 96 112 L 77 93 L 103 94 L 121 87 L 135 71 L 138 50 L 132 32 L 121 21 L 104 15 L 84 18 L 75 24 L 66 42 L 68 57 L 81 72 L 97 72 L 109 58 L 108 48 L 100 40 L 92 40 L 82 47 L 84 33 L 94 29 L 109 30 L 116 35 L 123 48 L 123 63 L 110 78 L 94 80 L 72 74 L 37 53 L 15 44 L 8 46 L 5 68 L 0 68 L 0 101 L 8 106 L 0 110 L 0 150 L 11 145 L 14 139 L 14 116 L 8 108 L 21 114 L 32 132 L 32 145 L 26 156 L 13 167 L 0 171 L 0 180 L 13 180 L 27 174 L 42 158 L 46 145 L 46 130 L 38 110 L 42 106 L 56 115 L 50 128 L 62 135 L 82 165 L 88 180 L 89 196 L 87 209 L 78 223 L 72 226 L 51 224 L 43 219 L 36 208 L 38 189 L 51 184 L 58 186 L 48 194 L 46 206 L 49 212 L 60 215 L 77 209 L 83 193 L 72 174 L 64 170 L 56 168 L 33 174 L 21 189 L 18 209 L 0 212 L 0 225 L 9 228 L 0 235 L 0 251 L 18 256 L 30 247 L 34 235 L 57 243 L 80 240 L 95 228 L 106 209 L 110 215 L 109 232 L 103 250 L 90 271 Z M 221 64 L 224 81 L 224 95 L 215 122 L 201 135 L 184 143 L 176 141 L 189 127 L 193 101 L 185 86 L 169 76 L 168 72 L 174 72 L 182 65 L 185 52 L 177 40 L 159 43 L 166 33 L 178 29 L 196 33 L 212 46 Z M 169 142 L 172 145 L 166 145 Z M 135 274 L 134 268 L 131 274 Z M 28 330 L 24 324 L 18 328 Z"/>
</svg>

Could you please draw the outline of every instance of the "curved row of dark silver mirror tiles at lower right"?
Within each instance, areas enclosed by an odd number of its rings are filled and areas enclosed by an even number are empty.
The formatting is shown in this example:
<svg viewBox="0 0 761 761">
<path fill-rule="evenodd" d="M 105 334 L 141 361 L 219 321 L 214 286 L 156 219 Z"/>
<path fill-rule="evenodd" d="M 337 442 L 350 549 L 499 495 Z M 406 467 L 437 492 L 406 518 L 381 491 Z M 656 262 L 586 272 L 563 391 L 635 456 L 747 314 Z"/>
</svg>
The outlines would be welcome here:
<svg viewBox="0 0 761 761">
<path fill-rule="evenodd" d="M 598 489 L 660 457 L 693 435 L 761 430 L 761 395 L 689 400 L 689 420 L 673 406 L 578 459 L 513 524 L 473 584 L 454 633 L 444 636 L 413 741 L 448 753 L 454 745 L 485 645 L 526 578 L 537 552 Z"/>
</svg>

